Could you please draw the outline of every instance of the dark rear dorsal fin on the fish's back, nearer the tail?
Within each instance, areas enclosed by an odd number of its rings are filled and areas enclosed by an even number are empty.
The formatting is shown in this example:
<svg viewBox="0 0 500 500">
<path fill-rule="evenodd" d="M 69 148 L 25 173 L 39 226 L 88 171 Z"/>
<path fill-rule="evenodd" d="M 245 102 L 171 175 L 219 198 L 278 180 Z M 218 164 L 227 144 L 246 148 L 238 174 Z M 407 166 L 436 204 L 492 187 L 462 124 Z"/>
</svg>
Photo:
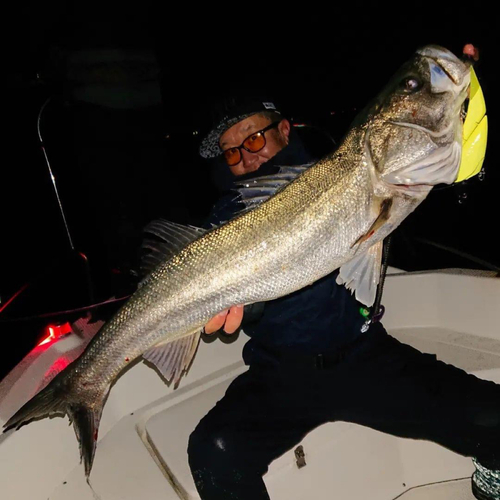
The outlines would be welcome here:
<svg viewBox="0 0 500 500">
<path fill-rule="evenodd" d="M 150 222 L 144 228 L 146 236 L 141 244 L 141 275 L 149 274 L 205 232 L 199 227 L 183 226 L 164 219 Z"/>
</svg>

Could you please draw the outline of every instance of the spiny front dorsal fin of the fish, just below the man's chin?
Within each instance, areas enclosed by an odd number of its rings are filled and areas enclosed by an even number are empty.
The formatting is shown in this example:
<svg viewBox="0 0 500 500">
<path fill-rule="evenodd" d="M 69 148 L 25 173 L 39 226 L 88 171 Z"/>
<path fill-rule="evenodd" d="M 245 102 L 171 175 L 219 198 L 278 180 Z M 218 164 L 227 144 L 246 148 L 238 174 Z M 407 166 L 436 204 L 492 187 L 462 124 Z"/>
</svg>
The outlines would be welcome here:
<svg viewBox="0 0 500 500">
<path fill-rule="evenodd" d="M 278 173 L 274 175 L 265 175 L 244 182 L 237 182 L 237 191 L 241 195 L 240 200 L 244 203 L 245 209 L 254 208 L 260 205 L 312 165 L 314 165 L 314 163 L 282 166 L 279 167 Z"/>
</svg>

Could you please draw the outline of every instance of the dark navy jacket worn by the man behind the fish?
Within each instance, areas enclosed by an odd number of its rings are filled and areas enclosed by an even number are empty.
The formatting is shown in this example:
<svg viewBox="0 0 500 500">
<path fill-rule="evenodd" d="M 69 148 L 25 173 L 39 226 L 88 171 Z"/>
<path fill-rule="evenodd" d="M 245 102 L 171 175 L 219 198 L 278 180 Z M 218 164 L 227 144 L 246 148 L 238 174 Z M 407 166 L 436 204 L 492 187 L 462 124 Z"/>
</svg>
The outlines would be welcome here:
<svg viewBox="0 0 500 500">
<path fill-rule="evenodd" d="M 313 158 L 292 129 L 287 147 L 257 172 L 238 177 L 238 181 L 272 174 L 281 165 L 302 165 L 310 161 Z M 229 172 L 223 164 L 219 168 Z M 227 184 L 226 172 L 219 172 L 219 178 Z M 237 193 L 230 191 L 216 203 L 207 225 L 227 221 L 241 209 Z M 362 305 L 344 286 L 336 284 L 337 274 L 334 272 L 285 297 L 245 308 L 243 328 L 251 337 L 243 351 L 245 363 L 259 362 L 284 352 L 329 353 L 355 340 L 365 321 L 359 312 Z"/>
</svg>

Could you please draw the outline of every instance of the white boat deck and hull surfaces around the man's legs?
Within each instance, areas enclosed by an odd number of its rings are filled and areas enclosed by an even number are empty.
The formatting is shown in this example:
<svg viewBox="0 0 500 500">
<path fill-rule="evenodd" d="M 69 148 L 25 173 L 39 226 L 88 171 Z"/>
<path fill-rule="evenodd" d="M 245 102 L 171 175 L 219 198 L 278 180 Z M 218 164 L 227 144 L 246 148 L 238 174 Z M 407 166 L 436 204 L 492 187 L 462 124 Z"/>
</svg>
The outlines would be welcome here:
<svg viewBox="0 0 500 500">
<path fill-rule="evenodd" d="M 392 335 L 500 383 L 500 280 L 394 275 L 387 279 L 383 302 L 388 311 L 383 322 Z M 246 369 L 240 360 L 245 341 L 240 335 L 227 345 L 202 344 L 177 390 L 144 363 L 122 375 L 104 410 L 91 475 L 99 498 L 199 498 L 187 465 L 187 439 L 231 380 Z M 40 369 L 32 362 L 0 384 L 2 422 L 60 358 L 60 352 L 44 355 Z M 265 481 L 273 500 L 473 499 L 470 459 L 433 443 L 340 422 L 316 429 L 301 445 L 305 467 L 297 467 L 294 450 L 271 464 Z M 94 499 L 73 430 L 61 418 L 33 422 L 0 437 L 0 484 L 5 500 Z"/>
</svg>

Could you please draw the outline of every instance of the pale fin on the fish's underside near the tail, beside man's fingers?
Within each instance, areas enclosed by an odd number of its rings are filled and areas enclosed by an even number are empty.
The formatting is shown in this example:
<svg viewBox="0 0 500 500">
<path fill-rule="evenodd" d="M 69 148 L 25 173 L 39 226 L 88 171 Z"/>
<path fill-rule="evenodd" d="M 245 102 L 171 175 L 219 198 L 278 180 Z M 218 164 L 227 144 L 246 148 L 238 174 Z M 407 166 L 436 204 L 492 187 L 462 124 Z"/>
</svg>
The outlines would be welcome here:
<svg viewBox="0 0 500 500">
<path fill-rule="evenodd" d="M 200 343 L 201 330 L 179 340 L 157 344 L 142 357 L 152 363 L 168 382 L 176 387 L 182 374 L 188 370 Z"/>
</svg>

